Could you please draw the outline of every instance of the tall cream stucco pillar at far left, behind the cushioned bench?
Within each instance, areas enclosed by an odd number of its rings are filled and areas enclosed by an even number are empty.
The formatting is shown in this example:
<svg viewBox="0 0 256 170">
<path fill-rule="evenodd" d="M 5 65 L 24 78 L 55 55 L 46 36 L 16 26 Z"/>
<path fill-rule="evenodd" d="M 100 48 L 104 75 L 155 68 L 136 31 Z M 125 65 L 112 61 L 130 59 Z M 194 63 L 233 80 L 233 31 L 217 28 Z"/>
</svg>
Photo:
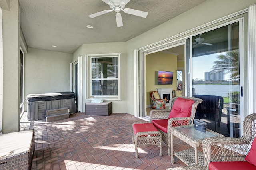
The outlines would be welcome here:
<svg viewBox="0 0 256 170">
<path fill-rule="evenodd" d="M 20 21 L 18 0 L 2 10 L 3 23 L 3 134 L 20 130 Z"/>
</svg>

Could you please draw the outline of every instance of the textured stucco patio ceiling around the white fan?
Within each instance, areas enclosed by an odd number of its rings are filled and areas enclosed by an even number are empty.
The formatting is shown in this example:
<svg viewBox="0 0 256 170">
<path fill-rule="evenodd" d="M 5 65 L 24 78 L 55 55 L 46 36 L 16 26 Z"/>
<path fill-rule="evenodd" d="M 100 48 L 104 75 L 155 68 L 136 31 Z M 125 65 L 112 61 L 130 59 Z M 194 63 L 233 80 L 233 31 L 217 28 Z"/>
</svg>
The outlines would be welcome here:
<svg viewBox="0 0 256 170">
<path fill-rule="evenodd" d="M 28 47 L 73 53 L 84 43 L 125 42 L 205 1 L 131 0 L 126 8 L 148 12 L 148 16 L 121 12 L 124 26 L 118 28 L 116 12 L 88 17 L 110 9 L 101 0 L 19 0 L 20 25 Z"/>
</svg>

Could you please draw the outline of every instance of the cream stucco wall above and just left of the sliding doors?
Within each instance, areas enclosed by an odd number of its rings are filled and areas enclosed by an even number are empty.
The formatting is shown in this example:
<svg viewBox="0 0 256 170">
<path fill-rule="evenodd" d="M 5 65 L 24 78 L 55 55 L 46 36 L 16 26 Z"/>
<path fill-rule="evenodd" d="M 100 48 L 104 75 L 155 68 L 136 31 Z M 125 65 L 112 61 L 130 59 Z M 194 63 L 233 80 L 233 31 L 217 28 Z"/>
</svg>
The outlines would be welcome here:
<svg viewBox="0 0 256 170">
<path fill-rule="evenodd" d="M 184 12 L 172 20 L 169 20 L 168 22 L 149 30 L 148 32 L 127 41 L 126 67 L 134 67 L 134 49 L 140 49 L 146 45 L 165 40 L 234 12 L 244 10 L 255 3 L 256 0 L 207 0 L 206 2 L 192 8 L 191 10 L 188 10 L 187 12 Z M 218 12 L 216 12 L 216 9 L 218 9 Z M 246 38 L 244 39 L 246 41 Z M 129 80 L 129 91 L 134 92 L 133 75 L 134 69 L 131 69 L 131 72 L 127 73 L 126 78 Z M 127 99 L 130 104 L 134 103 L 135 95 L 137 94 L 128 93 Z M 134 107 L 127 108 L 127 113 L 134 113 Z"/>
</svg>

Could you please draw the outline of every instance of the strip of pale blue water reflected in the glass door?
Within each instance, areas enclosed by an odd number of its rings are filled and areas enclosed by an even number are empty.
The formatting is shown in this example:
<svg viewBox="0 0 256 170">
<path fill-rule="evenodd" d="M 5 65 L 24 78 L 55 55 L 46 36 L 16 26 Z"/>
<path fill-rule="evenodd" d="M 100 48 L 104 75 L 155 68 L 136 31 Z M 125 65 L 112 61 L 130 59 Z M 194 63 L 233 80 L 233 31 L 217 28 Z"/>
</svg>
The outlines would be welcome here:
<svg viewBox="0 0 256 170">
<path fill-rule="evenodd" d="M 239 91 L 239 85 L 193 85 L 195 95 L 228 97 L 228 92 Z"/>
</svg>

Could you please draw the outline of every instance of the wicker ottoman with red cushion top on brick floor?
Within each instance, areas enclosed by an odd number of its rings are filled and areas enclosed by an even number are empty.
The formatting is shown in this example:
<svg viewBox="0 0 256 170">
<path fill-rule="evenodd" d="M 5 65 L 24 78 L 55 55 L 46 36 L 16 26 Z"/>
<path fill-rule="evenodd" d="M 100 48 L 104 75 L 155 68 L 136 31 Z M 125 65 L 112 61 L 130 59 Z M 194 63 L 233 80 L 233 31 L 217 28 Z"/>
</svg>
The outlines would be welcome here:
<svg viewBox="0 0 256 170">
<path fill-rule="evenodd" d="M 153 144 L 160 147 L 162 156 L 162 134 L 152 123 L 135 122 L 132 124 L 132 143 L 135 144 L 135 157 L 138 158 L 138 146 Z"/>
</svg>

